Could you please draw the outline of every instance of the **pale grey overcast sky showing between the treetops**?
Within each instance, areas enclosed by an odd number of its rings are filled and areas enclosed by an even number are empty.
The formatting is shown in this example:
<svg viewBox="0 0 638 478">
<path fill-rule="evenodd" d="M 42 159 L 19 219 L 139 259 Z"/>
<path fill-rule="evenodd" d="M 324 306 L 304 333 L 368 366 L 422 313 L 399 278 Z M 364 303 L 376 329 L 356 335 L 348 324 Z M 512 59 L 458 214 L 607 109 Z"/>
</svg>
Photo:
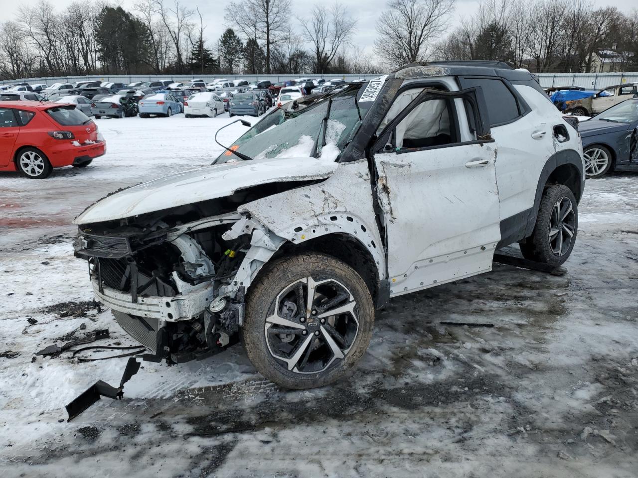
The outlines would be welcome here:
<svg viewBox="0 0 638 478">
<path fill-rule="evenodd" d="M 64 6 L 72 3 L 73 0 L 53 0 L 57 8 L 62 9 Z M 167 0 L 170 3 L 172 0 Z M 340 0 L 342 4 L 348 8 L 350 13 L 355 16 L 359 21 L 357 22 L 357 32 L 353 38 L 353 43 L 360 48 L 364 48 L 367 52 L 373 52 L 373 43 L 376 37 L 375 23 L 376 19 L 382 14 L 387 5 L 387 0 Z M 518 0 L 524 1 L 524 0 Z M 595 6 L 616 6 L 619 10 L 628 13 L 633 8 L 638 6 L 636 0 L 592 0 Z M 2 0 L 3 6 L 0 10 L 0 21 L 13 20 L 17 15 L 20 4 L 36 4 L 37 0 L 19 0 L 9 1 Z M 135 3 L 135 0 L 119 0 L 113 3 L 120 4 L 122 7 L 130 10 Z M 185 4 L 193 10 L 195 6 L 199 6 L 202 15 L 204 16 L 204 24 L 206 25 L 204 35 L 209 43 L 212 45 L 219 39 L 226 27 L 232 25 L 226 25 L 224 22 L 224 12 L 226 5 L 230 3 L 230 0 L 181 0 L 182 4 Z M 329 5 L 331 0 L 316 0 L 316 1 L 293 1 L 292 13 L 293 17 L 304 17 L 304 10 L 307 10 L 313 4 L 325 4 Z M 451 18 L 452 26 L 459 24 L 461 18 L 470 17 L 479 8 L 479 1 L 477 0 L 457 0 L 456 10 Z M 294 22 L 293 18 L 293 22 Z"/>
</svg>

